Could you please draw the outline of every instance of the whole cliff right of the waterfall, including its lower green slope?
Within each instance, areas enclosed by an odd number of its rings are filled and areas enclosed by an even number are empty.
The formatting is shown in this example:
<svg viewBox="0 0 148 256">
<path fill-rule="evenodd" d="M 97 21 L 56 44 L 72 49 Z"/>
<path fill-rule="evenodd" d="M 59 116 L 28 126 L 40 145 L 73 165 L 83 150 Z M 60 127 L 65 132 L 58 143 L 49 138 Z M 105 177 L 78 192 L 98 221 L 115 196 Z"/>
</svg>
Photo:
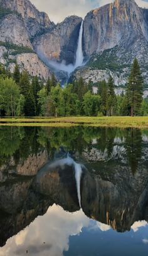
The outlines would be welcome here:
<svg viewBox="0 0 148 256">
<path fill-rule="evenodd" d="M 112 75 L 116 85 L 125 85 L 136 57 L 148 84 L 147 14 L 134 0 L 115 0 L 88 13 L 83 24 L 83 52 L 89 61 L 75 77 L 84 75 L 97 82 Z"/>
</svg>

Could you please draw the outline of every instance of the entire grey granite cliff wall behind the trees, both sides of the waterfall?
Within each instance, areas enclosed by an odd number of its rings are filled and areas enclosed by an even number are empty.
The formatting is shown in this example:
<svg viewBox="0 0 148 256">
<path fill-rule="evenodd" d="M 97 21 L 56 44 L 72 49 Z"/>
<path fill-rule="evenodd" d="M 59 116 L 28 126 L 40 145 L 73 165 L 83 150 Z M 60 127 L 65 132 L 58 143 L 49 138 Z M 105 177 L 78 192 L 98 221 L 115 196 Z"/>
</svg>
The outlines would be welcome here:
<svg viewBox="0 0 148 256">
<path fill-rule="evenodd" d="M 0 0 L 0 5 L 0 62 L 13 70 L 13 63 L 21 58 L 21 68 L 31 75 L 47 78 L 52 70 L 59 79 L 67 79 L 69 68 L 75 70 L 82 18 L 70 16 L 54 24 L 28 0 Z M 19 51 L 12 54 L 14 46 Z M 117 86 L 125 85 L 130 65 L 137 57 L 147 85 L 147 49 L 148 10 L 134 0 L 115 0 L 85 16 L 82 50 L 87 63 L 77 68 L 70 80 L 82 76 L 96 83 L 112 75 Z M 31 53 L 36 58 L 35 70 Z M 51 61 L 55 61 L 55 69 Z"/>
</svg>

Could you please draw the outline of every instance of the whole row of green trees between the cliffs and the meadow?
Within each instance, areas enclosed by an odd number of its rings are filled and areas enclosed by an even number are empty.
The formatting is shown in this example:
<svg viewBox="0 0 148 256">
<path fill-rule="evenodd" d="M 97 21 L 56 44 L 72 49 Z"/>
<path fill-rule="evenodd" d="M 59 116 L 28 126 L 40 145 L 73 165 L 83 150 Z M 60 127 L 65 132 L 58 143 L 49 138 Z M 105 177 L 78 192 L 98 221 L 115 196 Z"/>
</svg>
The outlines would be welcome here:
<svg viewBox="0 0 148 256">
<path fill-rule="evenodd" d="M 93 83 L 82 77 L 64 88 L 55 75 L 45 82 L 29 77 L 28 72 L 14 73 L 0 66 L 1 116 L 112 116 L 148 115 L 148 101 L 143 99 L 144 80 L 137 59 L 131 67 L 125 93 L 115 95 L 114 79 L 98 82 L 98 92 L 93 93 Z"/>
</svg>

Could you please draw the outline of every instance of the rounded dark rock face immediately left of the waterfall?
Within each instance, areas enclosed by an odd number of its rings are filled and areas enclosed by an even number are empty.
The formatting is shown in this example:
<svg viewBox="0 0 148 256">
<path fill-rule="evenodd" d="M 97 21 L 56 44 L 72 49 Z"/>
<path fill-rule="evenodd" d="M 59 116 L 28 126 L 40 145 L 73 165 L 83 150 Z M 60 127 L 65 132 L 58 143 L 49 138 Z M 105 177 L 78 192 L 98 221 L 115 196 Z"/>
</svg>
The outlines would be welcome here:
<svg viewBox="0 0 148 256">
<path fill-rule="evenodd" d="M 54 29 L 34 39 L 36 53 L 48 60 L 65 61 L 73 64 L 77 51 L 77 41 L 82 18 L 70 16 Z"/>
</svg>

